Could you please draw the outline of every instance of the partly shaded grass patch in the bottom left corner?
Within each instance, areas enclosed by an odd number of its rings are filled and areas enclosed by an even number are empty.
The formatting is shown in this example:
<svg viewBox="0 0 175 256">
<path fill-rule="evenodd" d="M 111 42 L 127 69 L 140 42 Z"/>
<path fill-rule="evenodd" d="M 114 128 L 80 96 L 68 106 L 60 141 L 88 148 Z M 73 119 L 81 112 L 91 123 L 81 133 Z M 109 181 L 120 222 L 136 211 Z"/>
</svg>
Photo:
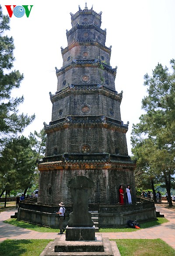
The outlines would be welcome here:
<svg viewBox="0 0 175 256">
<path fill-rule="evenodd" d="M 51 239 L 7 239 L 0 243 L 0 255 L 3 256 L 39 256 Z"/>
</svg>

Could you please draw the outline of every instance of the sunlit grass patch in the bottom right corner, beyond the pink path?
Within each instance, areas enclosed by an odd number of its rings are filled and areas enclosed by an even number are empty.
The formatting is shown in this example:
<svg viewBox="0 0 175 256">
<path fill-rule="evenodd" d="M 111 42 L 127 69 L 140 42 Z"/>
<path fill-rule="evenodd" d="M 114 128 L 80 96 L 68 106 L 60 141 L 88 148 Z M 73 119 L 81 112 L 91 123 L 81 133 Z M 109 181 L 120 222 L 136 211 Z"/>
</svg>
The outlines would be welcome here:
<svg viewBox="0 0 175 256">
<path fill-rule="evenodd" d="M 175 250 L 158 239 L 111 239 L 121 256 L 175 256 Z"/>
</svg>

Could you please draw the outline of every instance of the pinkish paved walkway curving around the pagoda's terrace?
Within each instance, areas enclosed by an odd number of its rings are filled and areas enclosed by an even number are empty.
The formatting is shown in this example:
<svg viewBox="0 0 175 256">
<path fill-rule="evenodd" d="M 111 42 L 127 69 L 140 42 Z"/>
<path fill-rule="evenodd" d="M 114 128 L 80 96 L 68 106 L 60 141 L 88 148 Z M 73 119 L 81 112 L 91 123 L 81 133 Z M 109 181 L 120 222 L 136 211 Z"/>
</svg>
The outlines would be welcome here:
<svg viewBox="0 0 175 256">
<path fill-rule="evenodd" d="M 140 229 L 133 232 L 117 232 L 117 233 L 102 233 L 103 237 L 109 237 L 109 239 L 123 239 L 123 238 L 148 238 L 155 239 L 161 238 L 168 245 L 171 245 L 175 249 L 175 210 L 167 209 L 161 204 L 156 205 L 156 210 L 161 214 L 165 214 L 165 218 L 169 222 L 154 226 L 152 228 Z M 10 224 L 6 224 L 3 221 L 7 220 L 14 215 L 16 209 L 1 212 L 0 214 L 0 242 L 5 239 L 54 239 L 58 237 L 57 232 L 54 233 L 40 233 L 37 231 L 28 230 L 25 228 L 15 227 Z"/>
</svg>

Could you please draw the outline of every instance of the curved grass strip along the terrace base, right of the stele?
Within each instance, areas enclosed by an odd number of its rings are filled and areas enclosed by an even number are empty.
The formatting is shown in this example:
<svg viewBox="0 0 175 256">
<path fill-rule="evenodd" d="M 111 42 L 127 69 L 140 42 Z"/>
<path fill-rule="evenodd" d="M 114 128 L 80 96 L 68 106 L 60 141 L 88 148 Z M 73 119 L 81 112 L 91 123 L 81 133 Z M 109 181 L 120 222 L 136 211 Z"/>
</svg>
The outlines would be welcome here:
<svg viewBox="0 0 175 256">
<path fill-rule="evenodd" d="M 150 228 L 150 227 L 154 227 L 156 225 L 163 224 L 165 222 L 168 222 L 168 220 L 165 218 L 157 218 L 157 220 L 154 220 L 154 221 L 147 221 L 144 223 L 140 223 L 140 228 Z M 133 231 L 137 231 L 137 230 L 139 230 L 139 229 L 135 229 L 135 228 L 100 228 L 99 232 L 133 232 Z"/>
</svg>

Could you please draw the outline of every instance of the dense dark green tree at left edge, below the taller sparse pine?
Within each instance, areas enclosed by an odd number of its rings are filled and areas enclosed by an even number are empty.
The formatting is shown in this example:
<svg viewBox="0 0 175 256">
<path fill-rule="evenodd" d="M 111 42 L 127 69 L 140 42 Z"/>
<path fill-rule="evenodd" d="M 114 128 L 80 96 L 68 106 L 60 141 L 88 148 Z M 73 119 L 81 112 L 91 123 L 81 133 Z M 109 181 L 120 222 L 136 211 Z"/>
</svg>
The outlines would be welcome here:
<svg viewBox="0 0 175 256">
<path fill-rule="evenodd" d="M 30 186 L 35 172 L 36 154 L 30 140 L 24 136 L 8 141 L 0 157 L 1 195 L 12 189 L 25 189 Z"/>
</svg>

